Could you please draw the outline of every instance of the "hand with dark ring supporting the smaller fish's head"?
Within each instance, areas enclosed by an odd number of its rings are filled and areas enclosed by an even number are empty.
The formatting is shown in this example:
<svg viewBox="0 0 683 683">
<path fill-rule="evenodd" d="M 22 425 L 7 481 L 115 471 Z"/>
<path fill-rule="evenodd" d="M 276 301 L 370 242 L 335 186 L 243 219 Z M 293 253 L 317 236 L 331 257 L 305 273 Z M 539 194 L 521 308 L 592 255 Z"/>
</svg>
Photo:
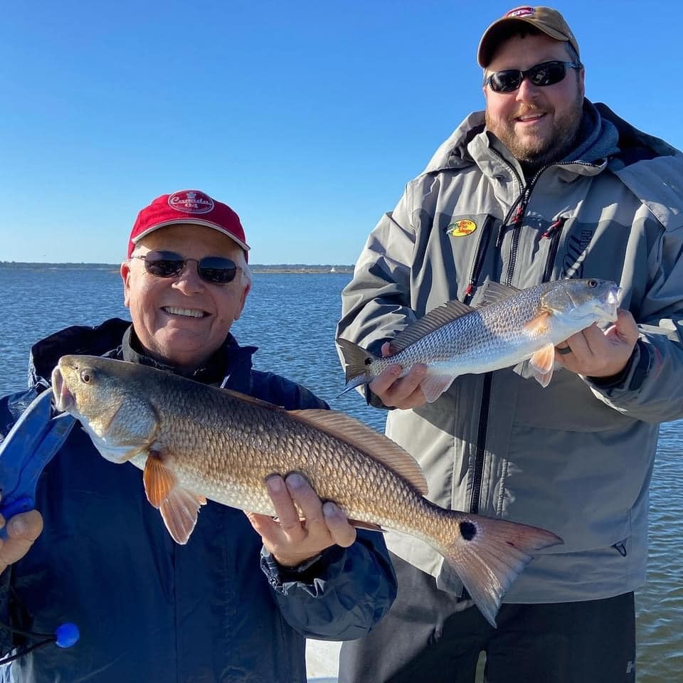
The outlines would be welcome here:
<svg viewBox="0 0 683 683">
<path fill-rule="evenodd" d="M 560 344 L 555 358 L 567 370 L 589 377 L 611 377 L 628 363 L 638 339 L 638 327 L 630 312 L 618 309 L 615 324 L 603 332 L 597 325 L 576 332 Z M 566 351 L 566 349 L 569 351 Z"/>
</svg>

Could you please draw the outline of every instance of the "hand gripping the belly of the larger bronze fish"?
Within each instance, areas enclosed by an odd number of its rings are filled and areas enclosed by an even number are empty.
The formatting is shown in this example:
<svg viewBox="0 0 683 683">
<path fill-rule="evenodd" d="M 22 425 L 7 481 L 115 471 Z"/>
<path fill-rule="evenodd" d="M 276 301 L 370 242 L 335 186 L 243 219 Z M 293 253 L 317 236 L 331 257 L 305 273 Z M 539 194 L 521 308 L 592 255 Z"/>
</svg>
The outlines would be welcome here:
<svg viewBox="0 0 683 683">
<path fill-rule="evenodd" d="M 346 548 L 356 540 L 356 529 L 339 507 L 331 502 L 323 504 L 300 475 L 289 475 L 286 480 L 273 475 L 266 480 L 266 486 L 278 521 L 267 514 L 245 514 L 263 539 L 265 549 L 280 565 L 295 567 L 329 546 Z"/>
</svg>

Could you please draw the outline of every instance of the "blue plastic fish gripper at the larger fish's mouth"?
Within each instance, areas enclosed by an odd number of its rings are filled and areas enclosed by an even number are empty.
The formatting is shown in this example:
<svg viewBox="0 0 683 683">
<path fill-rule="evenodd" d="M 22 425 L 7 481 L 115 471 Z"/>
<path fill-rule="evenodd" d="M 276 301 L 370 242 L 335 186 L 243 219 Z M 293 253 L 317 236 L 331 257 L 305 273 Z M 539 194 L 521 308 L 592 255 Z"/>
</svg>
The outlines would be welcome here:
<svg viewBox="0 0 683 683">
<path fill-rule="evenodd" d="M 5 522 L 35 507 L 38 477 L 76 422 L 68 413 L 51 414 L 52 392 L 43 391 L 0 444 L 0 514 Z M 0 538 L 6 537 L 7 524 L 0 529 Z"/>
</svg>

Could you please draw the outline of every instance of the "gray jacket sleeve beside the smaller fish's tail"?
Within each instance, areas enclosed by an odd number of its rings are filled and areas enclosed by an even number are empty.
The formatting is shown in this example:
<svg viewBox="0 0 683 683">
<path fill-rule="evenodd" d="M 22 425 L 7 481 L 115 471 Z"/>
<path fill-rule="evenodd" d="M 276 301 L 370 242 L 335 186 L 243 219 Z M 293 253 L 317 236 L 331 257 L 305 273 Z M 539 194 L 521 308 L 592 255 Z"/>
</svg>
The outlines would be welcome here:
<svg viewBox="0 0 683 683">
<path fill-rule="evenodd" d="M 377 223 L 359 256 L 354 277 L 342 291 L 342 319 L 337 338 L 349 339 L 374 354 L 383 342 L 415 322 L 411 307 L 411 264 L 415 227 L 411 218 L 413 185 L 408 184 L 396 208 Z M 339 349 L 339 357 L 344 363 Z M 364 388 L 359 387 L 364 393 Z M 371 405 L 383 407 L 369 391 Z"/>
</svg>

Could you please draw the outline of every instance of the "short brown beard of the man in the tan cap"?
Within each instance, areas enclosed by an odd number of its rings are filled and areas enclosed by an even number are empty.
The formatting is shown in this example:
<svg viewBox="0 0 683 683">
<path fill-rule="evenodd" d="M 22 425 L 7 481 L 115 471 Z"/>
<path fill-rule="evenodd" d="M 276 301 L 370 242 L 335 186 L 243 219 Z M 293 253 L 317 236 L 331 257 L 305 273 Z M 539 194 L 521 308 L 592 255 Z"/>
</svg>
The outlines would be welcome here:
<svg viewBox="0 0 683 683">
<path fill-rule="evenodd" d="M 509 126 L 506 127 L 500 127 L 492 122 L 488 110 L 485 116 L 487 129 L 509 149 L 515 159 L 522 164 L 539 169 L 546 164 L 561 161 L 576 147 L 576 137 L 581 128 L 581 117 L 583 117 L 583 95 L 576 98 L 570 109 L 556 117 L 553 134 L 549 139 L 522 142 L 514 134 L 514 119 L 532 113 L 537 108 L 521 107 L 514 116 L 509 118 L 507 122 Z"/>
</svg>

